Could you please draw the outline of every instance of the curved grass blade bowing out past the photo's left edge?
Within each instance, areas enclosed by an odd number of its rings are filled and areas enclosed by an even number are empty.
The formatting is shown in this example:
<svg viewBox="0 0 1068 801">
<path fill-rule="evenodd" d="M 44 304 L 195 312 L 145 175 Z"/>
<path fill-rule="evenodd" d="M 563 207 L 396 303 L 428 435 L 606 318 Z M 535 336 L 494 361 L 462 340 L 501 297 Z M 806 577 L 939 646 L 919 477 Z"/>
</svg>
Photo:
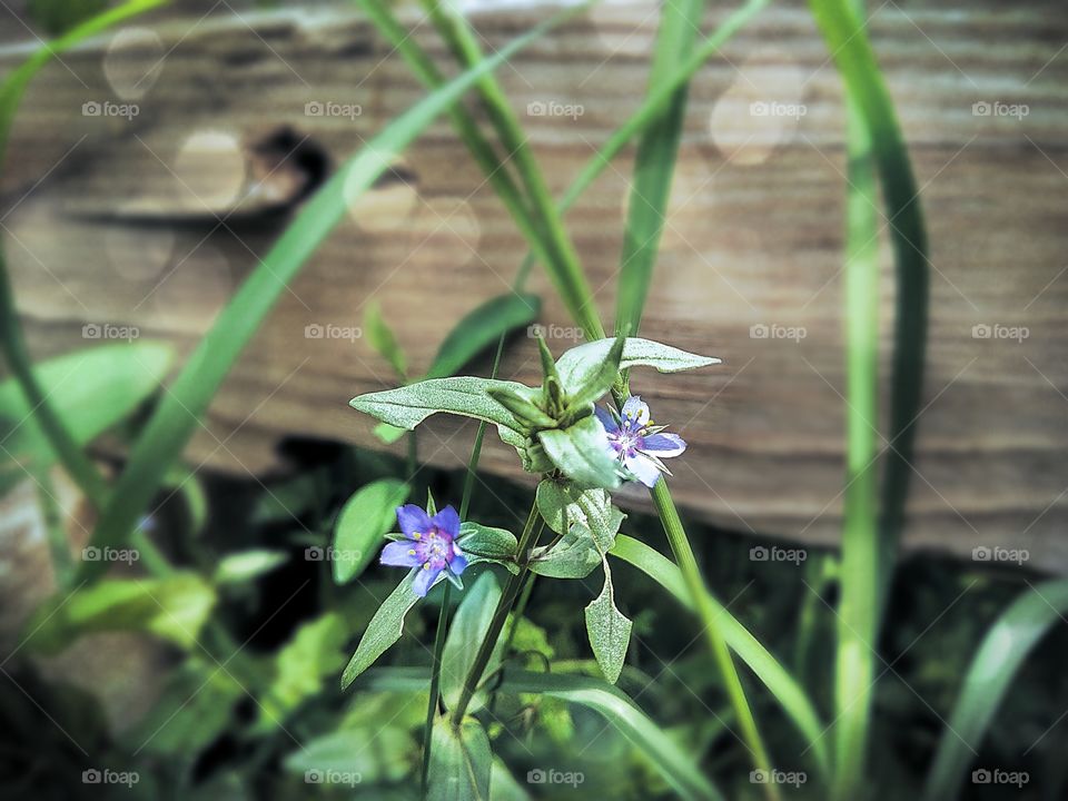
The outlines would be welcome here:
<svg viewBox="0 0 1068 801">
<path fill-rule="evenodd" d="M 68 33 L 43 44 L 14 70 L 0 87 L 0 164 L 3 162 L 11 136 L 11 126 L 26 88 L 33 76 L 48 63 L 53 56 L 111 26 L 136 17 L 149 9 L 165 4 L 166 0 L 132 0 L 105 11 L 71 29 Z M 75 437 L 63 425 L 48 395 L 42 390 L 33 375 L 32 360 L 26 347 L 22 327 L 19 325 L 14 293 L 8 275 L 7 260 L 0 246 L 0 347 L 33 409 L 41 431 L 48 437 L 52 448 L 59 454 L 67 472 L 78 484 L 86 497 L 102 508 L 107 501 L 108 487 L 89 457 L 82 452 Z"/>
</svg>

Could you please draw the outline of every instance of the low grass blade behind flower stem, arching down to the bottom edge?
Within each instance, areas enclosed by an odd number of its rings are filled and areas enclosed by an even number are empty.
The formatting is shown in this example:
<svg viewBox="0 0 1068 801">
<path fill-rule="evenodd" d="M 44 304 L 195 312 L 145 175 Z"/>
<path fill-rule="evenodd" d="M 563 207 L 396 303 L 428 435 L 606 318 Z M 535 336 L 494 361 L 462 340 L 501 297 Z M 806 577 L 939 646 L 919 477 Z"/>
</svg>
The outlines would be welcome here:
<svg viewBox="0 0 1068 801">
<path fill-rule="evenodd" d="M 427 676 L 425 668 L 380 668 L 364 674 L 364 686 L 370 692 L 422 692 Z M 690 755 L 622 691 L 602 679 L 508 670 L 497 692 L 537 693 L 591 709 L 633 743 L 680 798 L 723 801 Z"/>
</svg>

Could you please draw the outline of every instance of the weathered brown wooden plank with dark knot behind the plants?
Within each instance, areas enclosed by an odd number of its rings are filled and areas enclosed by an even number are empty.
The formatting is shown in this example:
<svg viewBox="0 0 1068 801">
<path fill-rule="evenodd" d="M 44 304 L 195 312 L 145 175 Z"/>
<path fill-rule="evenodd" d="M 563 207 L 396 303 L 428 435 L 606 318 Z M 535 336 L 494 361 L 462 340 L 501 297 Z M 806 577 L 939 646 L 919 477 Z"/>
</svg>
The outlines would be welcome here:
<svg viewBox="0 0 1068 801">
<path fill-rule="evenodd" d="M 574 118 L 524 117 L 555 191 L 639 105 L 652 8 L 600 9 L 501 70 L 521 111 L 536 102 L 583 109 Z M 128 93 L 129 76 L 155 63 L 151 47 L 136 46 L 152 43 L 144 36 L 113 48 L 112 63 L 109 39 L 82 48 L 32 87 L 4 175 L 2 224 L 40 356 L 85 345 L 87 323 L 135 325 L 188 352 L 285 222 L 256 209 L 298 196 L 306 177 L 295 160 L 278 167 L 270 152 L 249 156 L 235 142 L 261 142 L 289 126 L 297 140 L 309 137 L 305 166 L 314 167 L 316 154 L 336 162 L 422 95 L 347 6 L 304 16 L 200 13 L 184 7 L 138 23 L 159 37 L 154 47 L 165 58 L 155 82 L 137 87 L 146 91 L 130 120 L 85 117 L 81 108 L 123 101 L 115 86 Z M 500 47 L 544 13 L 479 12 L 476 22 Z M 1059 3 L 887 3 L 871 28 L 932 243 L 931 344 L 907 543 L 961 555 L 979 545 L 1026 547 L 1032 564 L 1062 571 L 1068 18 Z M 24 32 L 6 31 L 6 40 L 18 38 Z M 425 29 L 419 39 L 444 58 Z M 4 66 L 14 59 L 7 51 Z M 803 105 L 800 123 L 753 113 L 752 103 L 772 101 Z M 362 113 L 306 116 L 308 102 L 359 105 Z M 1029 108 L 1019 118 L 976 116 L 977 102 Z M 729 528 L 838 537 L 842 131 L 838 78 L 801 3 L 777 3 L 693 86 L 643 330 L 725 364 L 655 382 L 637 375 L 634 388 L 691 444 L 673 481 L 681 503 Z M 568 217 L 606 315 L 630 157 Z M 309 339 L 305 327 L 359 326 L 376 298 L 418 368 L 454 318 L 507 290 L 522 241 L 444 120 L 411 148 L 405 167 L 414 189 L 393 184 L 360 201 L 362 221 L 346 220 L 281 298 L 189 447 L 194 464 L 260 473 L 284 434 L 375 444 L 372 422 L 346 402 L 388 384 L 387 368 L 366 343 Z M 246 169 L 269 174 L 267 198 L 226 218 Z M 886 353 L 889 253 L 884 276 Z M 543 275 L 533 287 L 547 299 L 544 324 L 566 329 Z M 807 336 L 754 338 L 755 325 L 803 327 Z M 977 325 L 1022 326 L 1029 336 L 976 338 Z M 571 344 L 551 339 L 557 350 Z M 535 380 L 531 342 L 515 343 L 504 373 Z M 472 426 L 439 418 L 421 455 L 459 465 L 472 436 Z M 512 453 L 492 439 L 484 465 L 515 474 Z"/>
</svg>

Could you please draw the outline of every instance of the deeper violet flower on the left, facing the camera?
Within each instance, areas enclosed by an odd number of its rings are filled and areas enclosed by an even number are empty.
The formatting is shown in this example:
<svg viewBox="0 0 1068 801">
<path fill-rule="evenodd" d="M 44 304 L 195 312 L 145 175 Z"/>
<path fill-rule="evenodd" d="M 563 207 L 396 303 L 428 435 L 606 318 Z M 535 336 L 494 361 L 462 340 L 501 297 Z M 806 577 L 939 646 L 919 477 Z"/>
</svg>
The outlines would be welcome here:
<svg viewBox="0 0 1068 801">
<path fill-rule="evenodd" d="M 404 537 L 382 550 L 382 564 L 396 567 L 419 567 L 412 589 L 425 597 L 437 577 L 445 571 L 455 578 L 467 566 L 467 558 L 455 543 L 459 536 L 459 515 L 446 506 L 431 517 L 415 504 L 397 506 L 397 523 Z"/>
</svg>

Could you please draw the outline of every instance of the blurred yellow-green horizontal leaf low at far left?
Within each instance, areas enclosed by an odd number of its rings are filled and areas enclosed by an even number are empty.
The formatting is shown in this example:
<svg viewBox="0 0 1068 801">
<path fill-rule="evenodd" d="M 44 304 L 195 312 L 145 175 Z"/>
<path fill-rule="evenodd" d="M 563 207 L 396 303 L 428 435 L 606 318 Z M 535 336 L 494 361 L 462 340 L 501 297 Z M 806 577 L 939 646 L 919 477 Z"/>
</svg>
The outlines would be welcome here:
<svg viewBox="0 0 1068 801">
<path fill-rule="evenodd" d="M 215 601 L 215 590 L 195 573 L 105 578 L 42 604 L 27 623 L 26 644 L 56 654 L 90 632 L 140 631 L 192 649 Z"/>
</svg>

